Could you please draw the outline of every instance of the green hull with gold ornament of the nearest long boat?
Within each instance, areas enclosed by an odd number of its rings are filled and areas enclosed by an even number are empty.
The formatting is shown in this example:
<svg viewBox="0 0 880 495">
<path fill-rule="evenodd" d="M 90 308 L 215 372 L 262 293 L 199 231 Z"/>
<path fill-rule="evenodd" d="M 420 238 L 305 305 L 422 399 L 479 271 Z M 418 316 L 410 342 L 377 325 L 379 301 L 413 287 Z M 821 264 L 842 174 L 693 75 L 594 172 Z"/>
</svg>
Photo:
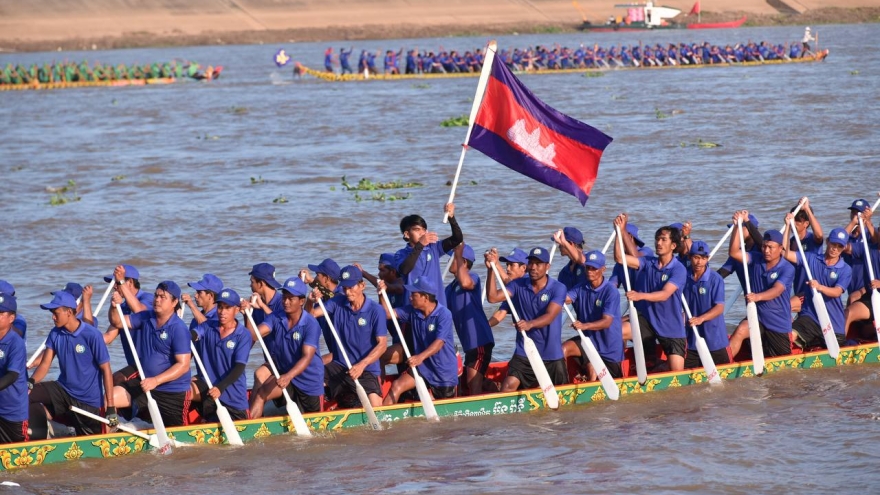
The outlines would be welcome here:
<svg viewBox="0 0 880 495">
<path fill-rule="evenodd" d="M 630 369 L 631 356 L 627 361 L 623 363 L 624 370 Z M 841 348 L 837 359 L 831 358 L 826 350 L 768 358 L 764 364 L 764 373 L 774 374 L 785 370 L 873 365 L 878 362 L 880 362 L 880 350 L 878 350 L 877 343 L 867 343 Z M 721 365 L 718 366 L 717 371 L 723 380 L 755 376 L 751 361 Z M 506 373 L 507 363 L 493 363 L 489 370 L 489 378 L 498 382 L 504 378 Z M 386 388 L 390 386 L 389 380 L 390 377 L 386 378 Z M 649 374 L 644 384 L 639 384 L 635 372 L 630 370 L 629 376 L 615 380 L 615 384 L 620 390 L 620 400 L 627 400 L 626 396 L 630 395 L 659 392 L 677 387 L 710 386 L 707 376 L 701 368 Z M 602 403 L 610 400 L 599 382 L 562 385 L 556 387 L 556 392 L 562 407 Z M 437 400 L 434 402 L 434 406 L 441 418 L 456 418 L 527 413 L 545 409 L 547 403 L 541 390 L 530 389 Z M 601 404 L 596 404 L 595 407 L 601 407 Z M 402 420 L 425 421 L 424 411 L 418 402 L 377 407 L 375 412 L 382 423 Z M 369 428 L 369 422 L 363 409 L 331 408 L 323 412 L 305 414 L 304 418 L 309 428 L 318 435 L 348 428 Z M 290 436 L 292 442 L 303 441 L 293 434 L 293 426 L 287 416 L 237 421 L 235 428 L 245 441 L 245 446 L 239 448 L 246 449 L 249 442 L 258 442 L 270 436 L 285 434 Z M 139 435 L 118 432 L 0 445 L 0 465 L 3 470 L 15 470 L 78 459 L 123 457 L 139 452 L 156 451 L 148 439 L 143 438 L 146 436 L 145 433 L 151 433 L 151 431 L 146 430 L 138 433 Z M 381 432 L 375 434 L 382 435 Z M 177 443 L 175 448 L 183 445 L 221 448 L 219 446 L 226 443 L 223 429 L 217 423 L 168 428 L 168 435 Z"/>
</svg>

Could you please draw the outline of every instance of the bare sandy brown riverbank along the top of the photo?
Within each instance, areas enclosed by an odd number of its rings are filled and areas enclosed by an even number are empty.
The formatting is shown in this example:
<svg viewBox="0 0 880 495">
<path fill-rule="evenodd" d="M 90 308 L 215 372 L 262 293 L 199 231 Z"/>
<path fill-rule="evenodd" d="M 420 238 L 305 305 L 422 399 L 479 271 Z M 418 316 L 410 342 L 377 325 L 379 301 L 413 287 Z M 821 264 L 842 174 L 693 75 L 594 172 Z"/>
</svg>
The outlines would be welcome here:
<svg viewBox="0 0 880 495">
<path fill-rule="evenodd" d="M 880 22 L 880 0 L 703 0 L 703 22 Z M 660 2 L 658 2 L 659 4 Z M 687 13 L 692 0 L 662 2 Z M 780 0 L 772 2 L 777 7 Z M 573 31 L 611 0 L 0 0 L 0 50 L 44 51 Z M 833 6 L 831 6 L 833 5 Z M 787 11 L 783 13 L 781 11 Z"/>
</svg>

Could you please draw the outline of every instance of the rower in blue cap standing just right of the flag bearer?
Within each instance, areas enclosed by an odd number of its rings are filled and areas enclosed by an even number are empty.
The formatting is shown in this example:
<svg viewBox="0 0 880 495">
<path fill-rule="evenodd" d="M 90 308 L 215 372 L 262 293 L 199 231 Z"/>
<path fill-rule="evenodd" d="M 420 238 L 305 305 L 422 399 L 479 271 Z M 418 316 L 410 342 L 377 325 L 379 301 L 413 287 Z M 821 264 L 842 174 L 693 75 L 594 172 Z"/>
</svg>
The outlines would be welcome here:
<svg viewBox="0 0 880 495">
<path fill-rule="evenodd" d="M 473 248 L 465 243 L 456 246 L 449 267 L 455 278 L 446 286 L 452 323 L 464 351 L 464 383 L 468 395 L 483 392 L 483 382 L 495 348 L 495 337 L 483 312 L 480 276 L 473 271 L 475 259 Z M 497 392 L 497 389 L 493 391 Z"/>
</svg>

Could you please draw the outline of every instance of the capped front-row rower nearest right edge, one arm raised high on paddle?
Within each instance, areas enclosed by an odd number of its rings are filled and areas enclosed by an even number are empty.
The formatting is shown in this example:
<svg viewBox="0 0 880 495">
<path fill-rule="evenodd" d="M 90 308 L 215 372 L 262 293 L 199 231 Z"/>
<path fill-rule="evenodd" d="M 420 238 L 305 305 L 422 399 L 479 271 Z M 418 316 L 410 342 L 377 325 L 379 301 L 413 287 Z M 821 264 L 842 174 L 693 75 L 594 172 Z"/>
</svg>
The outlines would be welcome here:
<svg viewBox="0 0 880 495">
<path fill-rule="evenodd" d="M 788 235 L 791 219 L 791 213 L 786 215 L 786 228 L 783 231 L 783 237 Z M 795 225 L 797 226 L 797 222 Z M 783 251 L 785 259 L 793 263 L 795 268 L 804 270 L 804 265 L 810 267 L 813 280 L 804 282 L 806 290 L 816 289 L 822 294 L 822 299 L 825 300 L 825 309 L 828 310 L 828 317 L 834 328 L 834 336 L 837 337 L 837 343 L 841 346 L 846 342 L 846 318 L 843 315 L 843 302 L 840 298 L 846 287 L 849 286 L 852 268 L 843 261 L 840 255 L 848 244 L 849 234 L 844 229 L 837 228 L 832 230 L 831 235 L 828 236 L 828 247 L 825 249 L 825 254 L 807 251 L 806 246 L 804 246 L 806 259 L 801 257 L 797 246 L 794 249 Z M 812 297 L 804 298 L 798 317 L 792 323 L 792 337 L 794 337 L 794 344 L 801 349 L 814 346 L 827 348 Z"/>
</svg>

